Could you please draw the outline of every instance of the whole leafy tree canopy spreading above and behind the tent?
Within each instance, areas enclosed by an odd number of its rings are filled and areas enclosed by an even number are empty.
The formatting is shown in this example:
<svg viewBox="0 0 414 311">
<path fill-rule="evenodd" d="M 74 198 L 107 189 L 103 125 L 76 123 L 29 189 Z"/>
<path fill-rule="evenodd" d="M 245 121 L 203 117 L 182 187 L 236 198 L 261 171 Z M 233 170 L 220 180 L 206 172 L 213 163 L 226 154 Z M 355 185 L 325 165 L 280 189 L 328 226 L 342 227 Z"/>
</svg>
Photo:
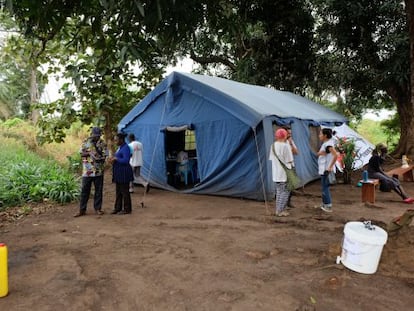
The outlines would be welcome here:
<svg viewBox="0 0 414 311">
<path fill-rule="evenodd" d="M 50 53 L 49 45 L 64 47 L 53 57 L 74 83 L 64 87 L 63 100 L 42 107 L 39 124 L 47 140 L 62 138 L 59 129 L 74 119 L 104 125 L 110 133 L 168 64 L 190 56 L 200 72 L 300 94 L 337 95 L 337 109 L 351 118 L 369 107 L 395 105 L 401 117 L 398 150 L 414 153 L 410 15 L 399 0 L 6 4 L 25 38 L 38 42 L 34 56 Z M 54 123 L 54 111 L 64 118 Z"/>
</svg>

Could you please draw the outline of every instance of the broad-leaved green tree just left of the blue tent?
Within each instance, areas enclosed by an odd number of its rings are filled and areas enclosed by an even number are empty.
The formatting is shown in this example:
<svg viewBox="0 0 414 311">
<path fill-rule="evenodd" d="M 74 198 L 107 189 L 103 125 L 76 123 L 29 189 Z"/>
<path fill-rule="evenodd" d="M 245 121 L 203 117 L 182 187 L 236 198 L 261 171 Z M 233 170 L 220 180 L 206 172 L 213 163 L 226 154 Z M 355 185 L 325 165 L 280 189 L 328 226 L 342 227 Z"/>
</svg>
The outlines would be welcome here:
<svg viewBox="0 0 414 311">
<path fill-rule="evenodd" d="M 162 66 L 143 68 L 141 70 L 145 71 L 136 75 L 135 62 L 125 60 L 125 49 L 117 46 L 116 34 L 111 33 L 109 26 L 105 35 L 95 34 L 91 38 L 88 26 L 79 28 L 75 25 L 79 23 L 72 20 L 71 25 L 66 26 L 67 31 L 76 31 L 93 45 L 77 44 L 76 49 L 67 45 L 69 53 L 60 55 L 59 64 L 64 68 L 64 77 L 73 83 L 63 86 L 63 99 L 39 106 L 43 111 L 38 124 L 40 139 L 42 142 L 63 141 L 64 129 L 80 120 L 84 124 L 103 127 L 111 145 L 116 123 L 149 88 L 159 82 Z M 62 38 L 61 41 L 67 42 L 68 39 Z"/>
</svg>

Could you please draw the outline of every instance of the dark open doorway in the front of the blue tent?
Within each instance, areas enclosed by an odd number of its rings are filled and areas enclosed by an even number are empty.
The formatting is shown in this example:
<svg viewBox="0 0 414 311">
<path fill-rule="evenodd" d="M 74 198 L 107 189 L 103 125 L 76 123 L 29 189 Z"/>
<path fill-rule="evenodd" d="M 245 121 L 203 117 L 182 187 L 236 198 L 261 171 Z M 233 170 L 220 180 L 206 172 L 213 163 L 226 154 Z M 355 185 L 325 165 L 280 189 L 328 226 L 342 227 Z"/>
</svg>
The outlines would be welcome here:
<svg viewBox="0 0 414 311">
<path fill-rule="evenodd" d="M 195 131 L 190 127 L 166 128 L 165 159 L 169 185 L 188 189 L 198 182 L 196 146 Z"/>
</svg>

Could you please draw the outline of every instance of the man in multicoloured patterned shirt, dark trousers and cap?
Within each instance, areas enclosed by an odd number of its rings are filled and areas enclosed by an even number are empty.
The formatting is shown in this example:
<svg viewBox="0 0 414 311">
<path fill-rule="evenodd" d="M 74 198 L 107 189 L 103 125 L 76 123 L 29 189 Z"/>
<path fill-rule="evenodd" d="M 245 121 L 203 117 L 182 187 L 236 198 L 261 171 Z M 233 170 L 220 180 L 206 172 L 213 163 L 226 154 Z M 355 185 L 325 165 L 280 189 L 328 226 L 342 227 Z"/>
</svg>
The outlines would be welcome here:
<svg viewBox="0 0 414 311">
<path fill-rule="evenodd" d="M 93 208 L 95 213 L 102 215 L 102 192 L 104 182 L 105 159 L 108 149 L 105 142 L 100 138 L 102 131 L 99 127 L 92 128 L 91 136 L 88 137 L 79 150 L 82 157 L 82 186 L 80 195 L 79 212 L 75 217 L 86 214 L 86 207 L 91 194 L 92 184 L 95 187 Z"/>
</svg>

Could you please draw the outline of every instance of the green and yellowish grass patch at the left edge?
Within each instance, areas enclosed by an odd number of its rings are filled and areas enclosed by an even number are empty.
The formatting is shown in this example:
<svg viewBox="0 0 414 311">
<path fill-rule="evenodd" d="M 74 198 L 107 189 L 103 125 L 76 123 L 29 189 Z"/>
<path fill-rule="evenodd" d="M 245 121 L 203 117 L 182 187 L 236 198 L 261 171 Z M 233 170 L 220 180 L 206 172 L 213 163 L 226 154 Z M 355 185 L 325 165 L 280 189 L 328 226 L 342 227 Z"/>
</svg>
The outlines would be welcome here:
<svg viewBox="0 0 414 311">
<path fill-rule="evenodd" d="M 38 146 L 35 131 L 25 122 L 2 124 L 0 134 L 0 210 L 28 202 L 68 203 L 79 197 L 79 178 L 67 169 L 69 162 L 63 149 L 57 145 L 51 149 Z M 48 150 L 64 159 L 56 160 Z M 66 152 L 77 151 L 69 148 Z M 66 162 L 66 167 L 60 162 Z"/>
</svg>

